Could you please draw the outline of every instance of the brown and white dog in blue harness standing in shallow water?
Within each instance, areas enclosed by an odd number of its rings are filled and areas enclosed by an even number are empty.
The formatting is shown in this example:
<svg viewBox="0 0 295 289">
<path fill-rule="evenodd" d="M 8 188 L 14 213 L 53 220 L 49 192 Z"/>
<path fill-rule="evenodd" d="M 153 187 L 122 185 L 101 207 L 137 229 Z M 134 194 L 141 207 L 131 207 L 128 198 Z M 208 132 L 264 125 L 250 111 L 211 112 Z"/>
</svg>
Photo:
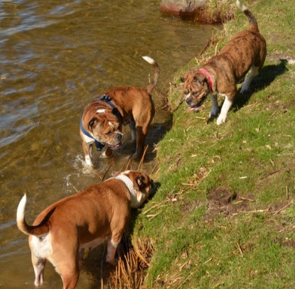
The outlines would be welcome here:
<svg viewBox="0 0 295 289">
<path fill-rule="evenodd" d="M 80 116 L 80 136 L 85 162 L 92 163 L 92 145 L 97 151 L 107 146 L 106 156 L 122 146 L 122 125 L 129 124 L 132 141 L 136 140 L 134 158 L 141 158 L 149 125 L 154 118 L 155 108 L 151 92 L 159 79 L 159 65 L 148 56 L 144 60 L 154 66 L 154 80 L 146 89 L 117 87 L 100 94 L 85 107 Z"/>
</svg>

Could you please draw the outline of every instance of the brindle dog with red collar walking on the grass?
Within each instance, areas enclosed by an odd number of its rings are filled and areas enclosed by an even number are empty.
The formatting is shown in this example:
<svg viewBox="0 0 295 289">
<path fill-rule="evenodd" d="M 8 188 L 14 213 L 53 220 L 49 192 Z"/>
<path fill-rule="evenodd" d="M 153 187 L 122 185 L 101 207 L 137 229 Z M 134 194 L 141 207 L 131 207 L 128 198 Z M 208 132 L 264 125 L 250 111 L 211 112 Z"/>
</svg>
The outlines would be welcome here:
<svg viewBox="0 0 295 289">
<path fill-rule="evenodd" d="M 191 111 L 198 111 L 210 94 L 212 107 L 210 117 L 218 116 L 218 94 L 225 97 L 225 102 L 217 119 L 217 124 L 225 122 L 227 113 L 237 94 L 237 82 L 251 72 L 242 85 L 241 93 L 249 89 L 253 78 L 264 65 L 267 45 L 259 33 L 257 21 L 252 13 L 237 0 L 237 7 L 250 21 L 250 28 L 237 33 L 218 53 L 200 69 L 188 72 L 183 77 L 186 104 Z"/>
</svg>

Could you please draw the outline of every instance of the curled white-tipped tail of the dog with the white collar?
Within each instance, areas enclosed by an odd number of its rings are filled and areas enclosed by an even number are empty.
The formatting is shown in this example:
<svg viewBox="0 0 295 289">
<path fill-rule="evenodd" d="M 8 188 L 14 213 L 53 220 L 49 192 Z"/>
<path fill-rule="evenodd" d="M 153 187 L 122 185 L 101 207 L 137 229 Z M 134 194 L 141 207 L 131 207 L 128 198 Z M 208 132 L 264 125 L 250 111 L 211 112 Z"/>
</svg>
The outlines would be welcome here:
<svg viewBox="0 0 295 289">
<path fill-rule="evenodd" d="M 48 214 L 46 214 L 43 221 L 37 226 L 30 226 L 27 224 L 25 219 L 25 208 L 26 208 L 26 194 L 22 197 L 21 202 L 18 204 L 17 212 L 16 212 L 16 224 L 18 229 L 26 235 L 34 235 L 34 236 L 45 236 L 49 232 L 49 224 L 48 219 L 53 213 L 55 209 L 51 209 Z"/>
</svg>

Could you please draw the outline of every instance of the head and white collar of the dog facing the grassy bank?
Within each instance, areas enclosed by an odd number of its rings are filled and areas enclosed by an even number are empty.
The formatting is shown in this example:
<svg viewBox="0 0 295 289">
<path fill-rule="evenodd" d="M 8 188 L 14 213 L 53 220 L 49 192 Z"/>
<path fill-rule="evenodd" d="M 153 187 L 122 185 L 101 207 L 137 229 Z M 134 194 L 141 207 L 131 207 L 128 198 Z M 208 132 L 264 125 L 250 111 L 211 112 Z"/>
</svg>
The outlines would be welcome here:
<svg viewBox="0 0 295 289">
<path fill-rule="evenodd" d="M 124 177 L 127 177 L 130 182 L 125 180 Z M 154 184 L 154 181 L 149 178 L 149 175 L 137 170 L 125 170 L 122 173 L 115 173 L 114 178 L 123 180 L 129 188 L 129 191 L 132 194 L 132 202 L 130 206 L 133 208 L 139 207 L 156 189 L 156 185 Z"/>
</svg>

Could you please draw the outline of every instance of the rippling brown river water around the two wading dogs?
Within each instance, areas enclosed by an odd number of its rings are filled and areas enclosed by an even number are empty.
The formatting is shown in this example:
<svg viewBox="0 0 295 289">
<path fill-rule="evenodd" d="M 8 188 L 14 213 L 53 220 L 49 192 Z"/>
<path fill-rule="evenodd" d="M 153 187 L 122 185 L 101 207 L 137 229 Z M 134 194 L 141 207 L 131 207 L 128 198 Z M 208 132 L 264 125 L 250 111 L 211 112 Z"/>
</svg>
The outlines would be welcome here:
<svg viewBox="0 0 295 289">
<path fill-rule="evenodd" d="M 152 148 L 170 122 L 161 92 L 212 31 L 213 26 L 162 16 L 156 0 L 0 1 L 0 288 L 33 288 L 27 236 L 16 227 L 23 194 L 31 223 L 50 203 L 123 168 L 132 153 L 127 142 L 113 158 L 95 153 L 96 170 L 85 169 L 83 107 L 111 87 L 146 87 L 154 70 L 141 56 L 154 58 L 161 75 L 143 167 L 150 173 L 156 165 Z M 77 288 L 97 288 L 97 262 L 92 256 L 82 268 Z M 43 288 L 61 287 L 48 263 Z"/>
</svg>

